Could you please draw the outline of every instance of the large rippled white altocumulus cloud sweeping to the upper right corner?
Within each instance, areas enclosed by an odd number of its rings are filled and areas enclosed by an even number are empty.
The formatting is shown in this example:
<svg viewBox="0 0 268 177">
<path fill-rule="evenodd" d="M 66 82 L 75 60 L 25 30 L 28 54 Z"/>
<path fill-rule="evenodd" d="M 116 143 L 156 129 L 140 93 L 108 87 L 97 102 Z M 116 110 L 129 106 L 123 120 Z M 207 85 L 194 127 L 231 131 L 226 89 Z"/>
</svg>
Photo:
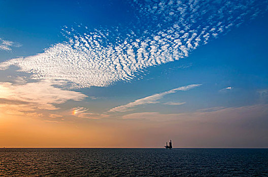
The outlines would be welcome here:
<svg viewBox="0 0 268 177">
<path fill-rule="evenodd" d="M 63 27 L 68 38 L 44 53 L 11 59 L 33 79 L 61 79 L 71 89 L 131 80 L 150 66 L 185 58 L 211 38 L 267 11 L 268 1 L 135 1 L 128 26 Z"/>
</svg>

